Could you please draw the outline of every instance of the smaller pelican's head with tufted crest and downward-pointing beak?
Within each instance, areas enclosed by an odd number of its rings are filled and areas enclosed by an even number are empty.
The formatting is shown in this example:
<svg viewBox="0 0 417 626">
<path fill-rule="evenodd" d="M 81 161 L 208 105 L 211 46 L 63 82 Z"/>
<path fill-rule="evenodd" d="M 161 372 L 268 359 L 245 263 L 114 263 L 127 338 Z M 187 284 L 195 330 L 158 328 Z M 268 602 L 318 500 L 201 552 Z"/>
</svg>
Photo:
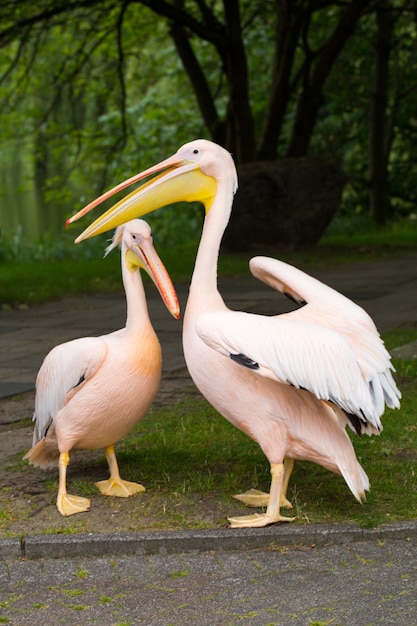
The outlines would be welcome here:
<svg viewBox="0 0 417 626">
<path fill-rule="evenodd" d="M 116 228 L 105 255 L 114 248 L 120 247 L 124 262 L 130 272 L 144 269 L 155 283 L 168 311 L 179 319 L 180 305 L 175 287 L 152 243 L 152 232 L 144 220 L 130 220 Z"/>
</svg>

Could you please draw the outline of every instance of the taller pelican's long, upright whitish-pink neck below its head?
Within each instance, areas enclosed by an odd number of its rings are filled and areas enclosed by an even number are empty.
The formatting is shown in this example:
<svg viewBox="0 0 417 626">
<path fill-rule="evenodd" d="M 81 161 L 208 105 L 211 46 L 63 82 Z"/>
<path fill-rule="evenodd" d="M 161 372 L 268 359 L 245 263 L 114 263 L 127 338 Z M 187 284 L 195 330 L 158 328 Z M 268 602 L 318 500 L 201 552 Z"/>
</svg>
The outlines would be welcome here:
<svg viewBox="0 0 417 626">
<path fill-rule="evenodd" d="M 191 288 L 209 295 L 217 292 L 217 263 L 223 233 L 229 222 L 233 203 L 233 185 L 225 180 L 218 184 L 216 198 L 205 217 L 198 246 Z"/>
</svg>

